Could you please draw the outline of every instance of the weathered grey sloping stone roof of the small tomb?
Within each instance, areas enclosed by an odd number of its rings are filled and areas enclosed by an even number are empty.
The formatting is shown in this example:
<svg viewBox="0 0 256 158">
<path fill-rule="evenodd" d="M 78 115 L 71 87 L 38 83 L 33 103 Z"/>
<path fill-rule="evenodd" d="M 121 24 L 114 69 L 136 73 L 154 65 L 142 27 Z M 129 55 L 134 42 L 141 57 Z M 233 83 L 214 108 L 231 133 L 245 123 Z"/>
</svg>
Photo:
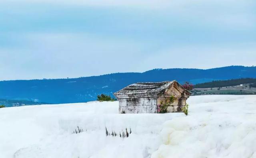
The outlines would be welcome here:
<svg viewBox="0 0 256 158">
<path fill-rule="evenodd" d="M 153 97 L 164 92 L 174 82 L 177 81 L 164 81 L 164 82 L 145 82 L 134 83 L 128 85 L 124 89 L 114 93 L 117 98 L 133 98 L 133 97 Z"/>
</svg>

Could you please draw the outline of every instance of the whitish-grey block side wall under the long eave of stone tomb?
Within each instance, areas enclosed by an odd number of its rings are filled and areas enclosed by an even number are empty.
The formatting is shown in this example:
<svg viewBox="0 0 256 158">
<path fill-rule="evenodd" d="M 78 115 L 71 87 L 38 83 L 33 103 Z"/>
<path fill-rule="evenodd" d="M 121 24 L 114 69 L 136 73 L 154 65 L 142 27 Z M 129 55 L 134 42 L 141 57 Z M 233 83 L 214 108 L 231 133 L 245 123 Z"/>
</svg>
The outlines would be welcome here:
<svg viewBox="0 0 256 158">
<path fill-rule="evenodd" d="M 119 99 L 119 113 L 156 113 L 157 98 Z"/>
</svg>

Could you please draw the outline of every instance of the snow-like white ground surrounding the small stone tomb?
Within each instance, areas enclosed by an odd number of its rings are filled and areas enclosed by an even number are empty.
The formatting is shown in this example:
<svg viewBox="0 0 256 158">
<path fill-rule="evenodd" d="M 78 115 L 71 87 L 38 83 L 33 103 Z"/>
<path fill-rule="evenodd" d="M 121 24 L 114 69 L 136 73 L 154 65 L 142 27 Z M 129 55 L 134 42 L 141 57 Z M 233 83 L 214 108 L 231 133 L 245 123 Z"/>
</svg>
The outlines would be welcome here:
<svg viewBox="0 0 256 158">
<path fill-rule="evenodd" d="M 256 95 L 188 103 L 188 116 L 118 114 L 118 102 L 2 108 L 0 158 L 256 158 Z M 132 133 L 106 137 L 105 127 Z"/>
</svg>

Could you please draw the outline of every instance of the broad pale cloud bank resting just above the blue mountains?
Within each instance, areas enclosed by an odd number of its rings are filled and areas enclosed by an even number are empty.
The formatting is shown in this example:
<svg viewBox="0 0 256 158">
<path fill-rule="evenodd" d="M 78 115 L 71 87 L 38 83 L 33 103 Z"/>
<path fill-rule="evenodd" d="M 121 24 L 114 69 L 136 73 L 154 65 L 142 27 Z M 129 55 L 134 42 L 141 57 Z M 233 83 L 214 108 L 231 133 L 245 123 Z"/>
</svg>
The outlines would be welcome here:
<svg viewBox="0 0 256 158">
<path fill-rule="evenodd" d="M 0 80 L 66 78 L 154 68 L 212 68 L 255 65 L 256 43 L 173 45 L 150 49 L 148 43 L 92 34 L 27 34 L 26 45 L 0 49 Z"/>
</svg>

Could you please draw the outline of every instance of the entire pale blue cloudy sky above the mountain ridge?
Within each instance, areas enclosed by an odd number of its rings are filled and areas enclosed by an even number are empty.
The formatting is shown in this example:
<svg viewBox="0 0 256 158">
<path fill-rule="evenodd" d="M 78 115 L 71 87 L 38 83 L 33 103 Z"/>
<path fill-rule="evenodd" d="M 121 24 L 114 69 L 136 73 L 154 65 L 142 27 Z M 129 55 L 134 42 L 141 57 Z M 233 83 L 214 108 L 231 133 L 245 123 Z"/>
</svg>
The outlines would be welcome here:
<svg viewBox="0 0 256 158">
<path fill-rule="evenodd" d="M 0 1 L 0 80 L 255 61 L 255 0 Z"/>
</svg>

